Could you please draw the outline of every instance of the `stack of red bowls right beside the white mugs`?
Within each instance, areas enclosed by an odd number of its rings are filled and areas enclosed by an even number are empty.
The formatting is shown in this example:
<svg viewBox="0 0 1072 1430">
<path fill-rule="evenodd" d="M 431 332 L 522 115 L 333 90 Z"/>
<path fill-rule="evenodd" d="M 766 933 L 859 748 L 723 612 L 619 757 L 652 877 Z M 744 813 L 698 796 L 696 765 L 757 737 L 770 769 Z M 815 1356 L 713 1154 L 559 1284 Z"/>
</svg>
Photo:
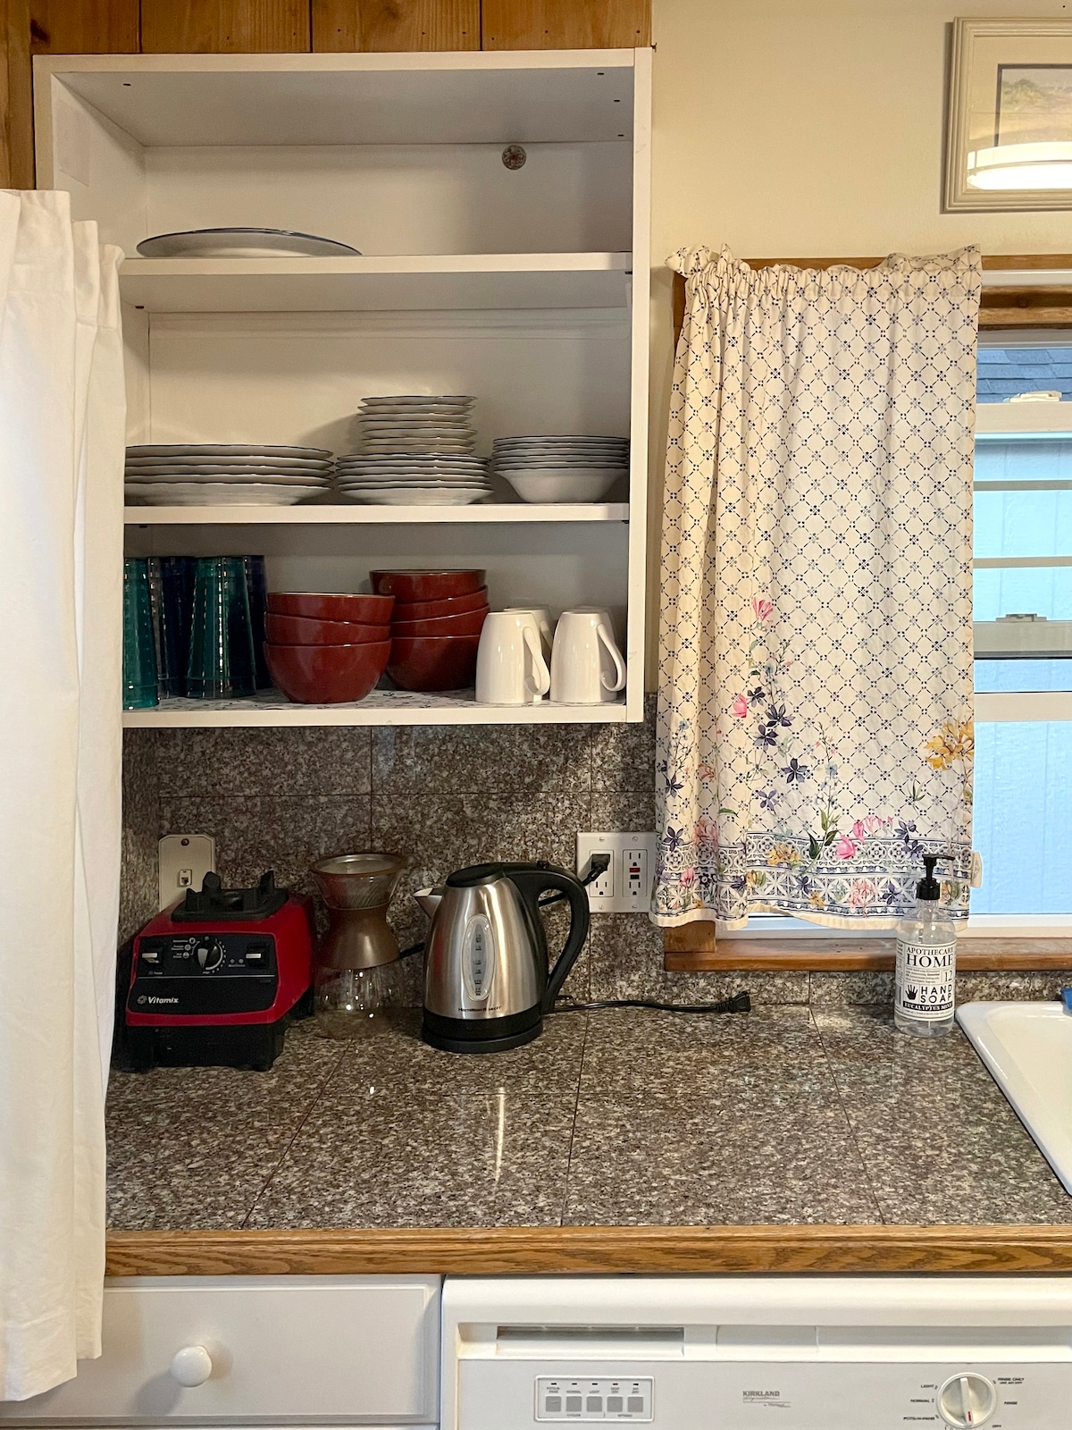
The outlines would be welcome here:
<svg viewBox="0 0 1072 1430">
<path fill-rule="evenodd" d="M 487 615 L 485 571 L 373 571 L 372 589 L 394 596 L 387 675 L 403 691 L 460 691 L 476 678 Z"/>
</svg>

